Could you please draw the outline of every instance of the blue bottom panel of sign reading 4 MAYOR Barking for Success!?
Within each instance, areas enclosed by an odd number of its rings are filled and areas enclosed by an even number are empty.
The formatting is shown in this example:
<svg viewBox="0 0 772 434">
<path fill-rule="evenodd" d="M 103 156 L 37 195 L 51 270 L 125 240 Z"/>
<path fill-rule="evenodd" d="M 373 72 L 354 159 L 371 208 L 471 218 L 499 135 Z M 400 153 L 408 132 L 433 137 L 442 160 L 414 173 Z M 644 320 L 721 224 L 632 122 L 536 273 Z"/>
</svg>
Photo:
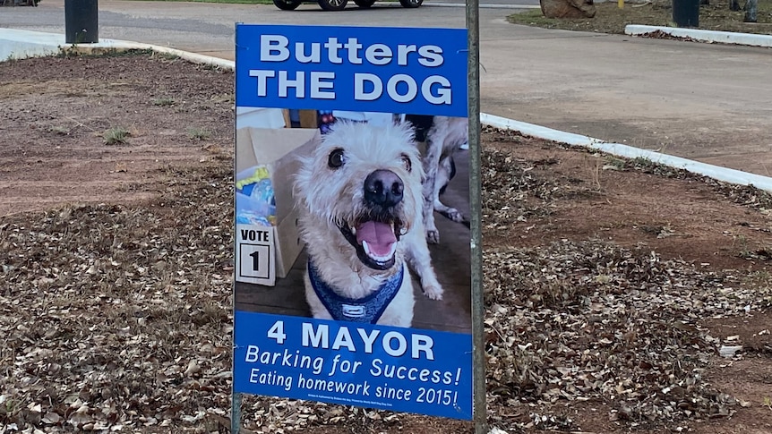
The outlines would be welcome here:
<svg viewBox="0 0 772 434">
<path fill-rule="evenodd" d="M 234 391 L 472 418 L 472 337 L 236 311 Z"/>
</svg>

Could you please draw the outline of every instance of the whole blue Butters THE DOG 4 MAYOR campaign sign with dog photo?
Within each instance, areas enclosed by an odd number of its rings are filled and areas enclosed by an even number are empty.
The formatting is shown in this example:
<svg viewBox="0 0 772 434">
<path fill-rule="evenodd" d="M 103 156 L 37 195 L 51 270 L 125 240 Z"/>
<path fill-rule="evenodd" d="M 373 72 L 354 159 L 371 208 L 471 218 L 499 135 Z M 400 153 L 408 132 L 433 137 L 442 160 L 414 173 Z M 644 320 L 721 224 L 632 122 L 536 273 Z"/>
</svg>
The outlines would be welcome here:
<svg viewBox="0 0 772 434">
<path fill-rule="evenodd" d="M 416 170 L 468 173 L 467 58 L 466 29 L 237 25 L 236 393 L 472 419 L 469 228 L 425 243 Z"/>
</svg>

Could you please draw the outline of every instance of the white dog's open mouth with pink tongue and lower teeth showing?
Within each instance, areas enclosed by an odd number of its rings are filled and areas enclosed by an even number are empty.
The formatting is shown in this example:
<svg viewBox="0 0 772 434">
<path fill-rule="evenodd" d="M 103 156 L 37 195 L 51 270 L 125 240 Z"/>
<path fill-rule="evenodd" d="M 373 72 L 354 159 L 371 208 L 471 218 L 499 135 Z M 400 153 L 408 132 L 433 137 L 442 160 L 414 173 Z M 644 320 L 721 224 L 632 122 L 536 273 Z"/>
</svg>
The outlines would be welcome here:
<svg viewBox="0 0 772 434">
<path fill-rule="evenodd" d="M 339 229 L 367 267 L 388 269 L 394 266 L 394 253 L 402 230 L 399 220 L 383 222 L 365 219 L 353 226 L 344 224 Z"/>
</svg>

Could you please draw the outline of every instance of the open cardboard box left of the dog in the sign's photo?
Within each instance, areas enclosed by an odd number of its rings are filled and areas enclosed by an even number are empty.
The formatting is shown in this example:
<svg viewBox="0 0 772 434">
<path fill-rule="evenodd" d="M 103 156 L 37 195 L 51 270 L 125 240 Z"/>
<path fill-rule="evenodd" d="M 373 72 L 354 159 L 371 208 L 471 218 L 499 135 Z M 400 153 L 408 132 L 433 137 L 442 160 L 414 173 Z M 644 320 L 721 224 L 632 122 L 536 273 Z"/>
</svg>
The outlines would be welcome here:
<svg viewBox="0 0 772 434">
<path fill-rule="evenodd" d="M 316 129 L 236 130 L 236 282 L 275 285 L 303 250 L 293 177 L 319 140 Z"/>
</svg>

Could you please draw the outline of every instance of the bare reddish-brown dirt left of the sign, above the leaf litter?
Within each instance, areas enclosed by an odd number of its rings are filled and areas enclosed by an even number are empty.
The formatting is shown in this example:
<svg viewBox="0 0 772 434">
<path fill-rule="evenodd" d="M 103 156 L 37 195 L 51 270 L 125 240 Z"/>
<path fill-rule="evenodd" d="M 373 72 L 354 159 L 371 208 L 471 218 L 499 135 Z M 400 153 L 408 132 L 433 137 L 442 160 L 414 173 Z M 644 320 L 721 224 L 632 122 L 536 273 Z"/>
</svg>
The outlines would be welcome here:
<svg viewBox="0 0 772 434">
<path fill-rule="evenodd" d="M 5 62 L 0 77 L 0 216 L 147 200 L 159 169 L 232 147 L 230 72 L 159 57 L 76 57 Z M 128 138 L 107 145 L 116 128 Z M 211 140 L 198 140 L 202 131 Z"/>
</svg>

